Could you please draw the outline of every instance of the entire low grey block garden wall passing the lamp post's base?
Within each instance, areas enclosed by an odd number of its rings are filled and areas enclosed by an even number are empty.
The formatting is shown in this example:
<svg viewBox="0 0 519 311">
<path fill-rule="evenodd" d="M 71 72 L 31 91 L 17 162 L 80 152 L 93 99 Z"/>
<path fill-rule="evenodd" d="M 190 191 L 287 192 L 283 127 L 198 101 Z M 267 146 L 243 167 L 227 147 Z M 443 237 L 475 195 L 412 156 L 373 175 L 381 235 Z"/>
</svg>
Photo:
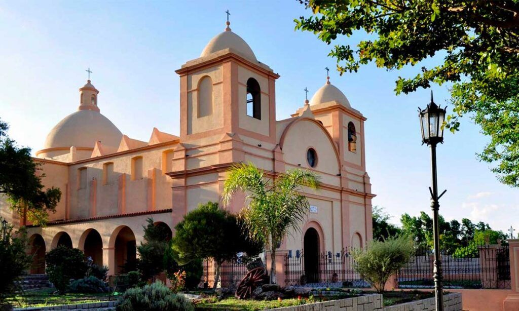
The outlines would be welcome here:
<svg viewBox="0 0 519 311">
<path fill-rule="evenodd" d="M 326 302 L 317 302 L 301 306 L 276 308 L 283 311 L 313 311 L 313 310 L 340 310 L 340 311 L 434 311 L 434 298 L 412 301 L 394 306 L 382 306 L 382 295 L 371 294 L 354 298 L 338 299 Z M 462 311 L 461 294 L 451 293 L 443 296 L 445 311 Z"/>
</svg>

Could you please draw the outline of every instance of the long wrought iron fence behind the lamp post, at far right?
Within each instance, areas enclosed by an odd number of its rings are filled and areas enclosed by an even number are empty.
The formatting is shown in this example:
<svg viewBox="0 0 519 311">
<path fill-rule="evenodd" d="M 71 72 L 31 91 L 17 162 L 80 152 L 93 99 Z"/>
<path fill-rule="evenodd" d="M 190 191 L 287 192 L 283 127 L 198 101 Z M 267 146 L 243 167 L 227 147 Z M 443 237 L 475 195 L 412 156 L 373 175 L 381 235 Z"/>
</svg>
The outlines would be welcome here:
<svg viewBox="0 0 519 311">
<path fill-rule="evenodd" d="M 473 245 L 472 249 L 442 252 L 442 276 L 445 288 L 510 288 L 508 245 Z M 416 249 L 415 256 L 397 276 L 399 288 L 430 288 L 433 280 L 434 253 Z"/>
</svg>

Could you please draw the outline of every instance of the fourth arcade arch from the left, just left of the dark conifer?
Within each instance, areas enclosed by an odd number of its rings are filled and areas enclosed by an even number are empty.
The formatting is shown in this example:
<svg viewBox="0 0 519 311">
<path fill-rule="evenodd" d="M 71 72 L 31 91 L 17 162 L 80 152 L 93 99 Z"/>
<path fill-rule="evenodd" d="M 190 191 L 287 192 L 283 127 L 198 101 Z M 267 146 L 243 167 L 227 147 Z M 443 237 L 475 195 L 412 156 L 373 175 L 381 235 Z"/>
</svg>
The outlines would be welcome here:
<svg viewBox="0 0 519 311">
<path fill-rule="evenodd" d="M 126 273 L 136 270 L 137 248 L 135 235 L 129 227 L 123 227 L 115 238 L 115 273 Z"/>
</svg>

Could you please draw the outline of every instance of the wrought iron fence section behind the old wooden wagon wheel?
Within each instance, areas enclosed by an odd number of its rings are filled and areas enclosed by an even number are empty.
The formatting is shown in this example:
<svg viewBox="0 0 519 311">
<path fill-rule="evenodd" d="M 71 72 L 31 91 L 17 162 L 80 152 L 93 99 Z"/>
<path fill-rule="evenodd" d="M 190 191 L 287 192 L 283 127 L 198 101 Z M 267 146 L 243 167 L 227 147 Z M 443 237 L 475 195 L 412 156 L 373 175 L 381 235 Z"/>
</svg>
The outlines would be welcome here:
<svg viewBox="0 0 519 311">
<path fill-rule="evenodd" d="M 200 287 L 212 288 L 214 285 L 214 274 L 216 267 L 214 260 L 206 259 L 203 261 L 203 274 Z M 241 279 L 247 274 L 247 266 L 238 261 L 224 261 L 220 267 L 220 281 L 216 287 L 234 288 Z"/>
</svg>

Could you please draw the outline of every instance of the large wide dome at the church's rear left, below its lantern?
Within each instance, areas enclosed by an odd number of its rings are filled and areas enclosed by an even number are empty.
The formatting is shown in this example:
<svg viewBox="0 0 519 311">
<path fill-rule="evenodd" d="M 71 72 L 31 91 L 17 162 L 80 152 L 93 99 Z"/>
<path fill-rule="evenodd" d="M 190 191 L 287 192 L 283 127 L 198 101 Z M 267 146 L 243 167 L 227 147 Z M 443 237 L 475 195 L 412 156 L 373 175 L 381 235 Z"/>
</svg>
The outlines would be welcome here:
<svg viewBox="0 0 519 311">
<path fill-rule="evenodd" d="M 100 112 L 78 110 L 63 118 L 45 139 L 44 149 L 84 147 L 93 148 L 101 140 L 103 146 L 117 149 L 122 133 Z"/>
</svg>

